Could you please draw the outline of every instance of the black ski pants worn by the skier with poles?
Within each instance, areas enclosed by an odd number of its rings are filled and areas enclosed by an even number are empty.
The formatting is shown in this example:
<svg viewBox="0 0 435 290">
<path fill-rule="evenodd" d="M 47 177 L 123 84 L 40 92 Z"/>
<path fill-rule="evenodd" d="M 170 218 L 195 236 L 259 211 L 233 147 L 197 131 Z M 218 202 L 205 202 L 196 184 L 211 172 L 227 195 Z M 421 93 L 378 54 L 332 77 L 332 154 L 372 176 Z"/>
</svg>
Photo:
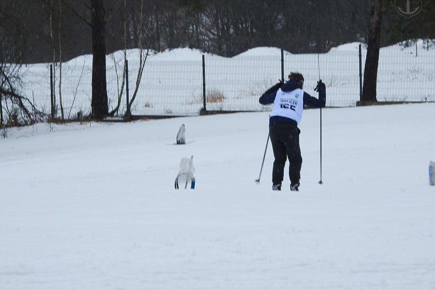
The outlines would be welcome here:
<svg viewBox="0 0 435 290">
<path fill-rule="evenodd" d="M 270 141 L 272 143 L 273 162 L 272 183 L 282 183 L 284 167 L 288 158 L 289 178 L 291 185 L 299 183 L 302 156 L 299 147 L 299 133 L 296 123 L 275 123 L 269 126 Z"/>
</svg>

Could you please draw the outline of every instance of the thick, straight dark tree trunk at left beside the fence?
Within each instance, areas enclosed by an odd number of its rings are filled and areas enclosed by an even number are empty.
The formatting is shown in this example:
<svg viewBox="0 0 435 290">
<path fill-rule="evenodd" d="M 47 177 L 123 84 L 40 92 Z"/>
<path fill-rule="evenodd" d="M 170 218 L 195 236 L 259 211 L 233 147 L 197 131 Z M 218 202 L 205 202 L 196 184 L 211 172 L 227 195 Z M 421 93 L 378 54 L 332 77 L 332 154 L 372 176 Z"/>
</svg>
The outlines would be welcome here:
<svg viewBox="0 0 435 290">
<path fill-rule="evenodd" d="M 103 0 L 91 0 L 92 15 L 92 117 L 108 115 L 106 89 L 106 33 Z"/>
</svg>

